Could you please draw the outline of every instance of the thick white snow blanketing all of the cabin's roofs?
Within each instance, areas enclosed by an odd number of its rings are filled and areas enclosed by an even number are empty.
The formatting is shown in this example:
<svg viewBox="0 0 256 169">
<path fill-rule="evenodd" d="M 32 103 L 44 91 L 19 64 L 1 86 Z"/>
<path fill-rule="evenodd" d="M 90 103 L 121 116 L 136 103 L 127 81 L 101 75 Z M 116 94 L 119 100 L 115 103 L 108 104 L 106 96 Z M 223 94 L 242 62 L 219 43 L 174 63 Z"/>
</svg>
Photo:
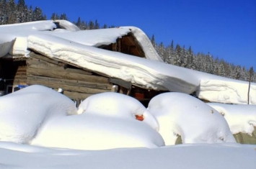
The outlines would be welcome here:
<svg viewBox="0 0 256 169">
<path fill-rule="evenodd" d="M 55 29 L 53 21 L 0 26 L 0 57 L 24 57 L 35 50 L 45 57 L 130 81 L 135 86 L 195 92 L 200 99 L 211 102 L 247 104 L 248 82 L 163 63 L 141 29 L 117 27 L 81 31 L 70 22 L 59 22 L 64 29 Z M 97 48 L 130 32 L 144 49 L 147 59 Z M 256 104 L 256 83 L 250 86 L 250 104 Z"/>
</svg>

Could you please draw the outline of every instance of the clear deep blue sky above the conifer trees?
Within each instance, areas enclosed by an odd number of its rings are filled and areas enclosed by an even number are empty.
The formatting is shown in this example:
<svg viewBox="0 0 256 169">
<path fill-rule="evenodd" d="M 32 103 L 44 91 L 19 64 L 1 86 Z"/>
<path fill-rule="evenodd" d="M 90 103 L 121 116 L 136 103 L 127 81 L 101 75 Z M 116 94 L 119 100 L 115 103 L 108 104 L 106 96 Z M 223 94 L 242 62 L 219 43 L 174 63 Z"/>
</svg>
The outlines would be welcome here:
<svg viewBox="0 0 256 169">
<path fill-rule="evenodd" d="M 95 19 L 100 26 L 135 26 L 156 42 L 192 47 L 195 53 L 256 70 L 255 0 L 25 0 L 48 19 L 65 13 L 70 21 Z"/>
</svg>

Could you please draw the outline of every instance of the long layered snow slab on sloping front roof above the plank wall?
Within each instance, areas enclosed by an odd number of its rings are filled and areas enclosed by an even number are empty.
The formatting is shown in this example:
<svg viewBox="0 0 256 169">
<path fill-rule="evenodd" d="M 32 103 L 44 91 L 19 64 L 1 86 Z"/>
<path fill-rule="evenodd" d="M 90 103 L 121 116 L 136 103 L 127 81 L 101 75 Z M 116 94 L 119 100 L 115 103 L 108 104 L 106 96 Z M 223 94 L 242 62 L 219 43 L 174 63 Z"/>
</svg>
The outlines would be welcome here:
<svg viewBox="0 0 256 169">
<path fill-rule="evenodd" d="M 30 36 L 28 47 L 50 58 L 63 60 L 106 76 L 131 81 L 136 86 L 192 93 L 199 83 L 198 79 L 193 77 L 193 72 L 187 69 L 84 46 L 60 37 Z M 189 82 L 184 81 L 185 79 Z"/>
</svg>

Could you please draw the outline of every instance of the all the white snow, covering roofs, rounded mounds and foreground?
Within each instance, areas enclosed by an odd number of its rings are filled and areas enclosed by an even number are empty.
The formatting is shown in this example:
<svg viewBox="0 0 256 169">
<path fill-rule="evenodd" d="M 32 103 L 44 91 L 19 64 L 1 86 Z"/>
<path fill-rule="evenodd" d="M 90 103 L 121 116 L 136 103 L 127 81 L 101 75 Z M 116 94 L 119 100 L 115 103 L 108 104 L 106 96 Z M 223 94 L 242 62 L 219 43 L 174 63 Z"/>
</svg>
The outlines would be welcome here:
<svg viewBox="0 0 256 169">
<path fill-rule="evenodd" d="M 1 26 L 0 57 L 29 57 L 35 50 L 136 86 L 175 92 L 155 96 L 148 107 L 120 93 L 95 94 L 76 107 L 37 85 L 1 96 L 0 168 L 256 168 L 256 145 L 240 145 L 233 136 L 256 127 L 255 83 L 247 105 L 247 82 L 162 63 L 136 27 L 101 33 L 64 21 L 64 29 L 55 27 L 52 21 Z M 147 59 L 97 48 L 128 32 Z M 92 35 L 95 40 L 85 38 Z M 219 103 L 187 94 L 193 92 Z M 182 145 L 175 145 L 178 136 Z"/>
</svg>

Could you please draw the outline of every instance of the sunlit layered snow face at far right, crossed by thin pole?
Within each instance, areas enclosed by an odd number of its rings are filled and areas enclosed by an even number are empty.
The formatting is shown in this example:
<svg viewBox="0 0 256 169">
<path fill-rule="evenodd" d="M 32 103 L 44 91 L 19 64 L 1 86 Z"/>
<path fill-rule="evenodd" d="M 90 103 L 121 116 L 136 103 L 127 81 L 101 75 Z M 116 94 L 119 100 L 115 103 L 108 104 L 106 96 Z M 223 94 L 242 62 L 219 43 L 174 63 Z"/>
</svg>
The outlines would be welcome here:
<svg viewBox="0 0 256 169">
<path fill-rule="evenodd" d="M 201 80 L 198 97 L 211 102 L 247 104 L 248 88 L 249 82 L 241 83 L 241 81 L 237 81 L 230 83 L 229 81 Z M 256 104 L 255 83 L 252 83 L 250 86 L 250 104 Z"/>
</svg>

